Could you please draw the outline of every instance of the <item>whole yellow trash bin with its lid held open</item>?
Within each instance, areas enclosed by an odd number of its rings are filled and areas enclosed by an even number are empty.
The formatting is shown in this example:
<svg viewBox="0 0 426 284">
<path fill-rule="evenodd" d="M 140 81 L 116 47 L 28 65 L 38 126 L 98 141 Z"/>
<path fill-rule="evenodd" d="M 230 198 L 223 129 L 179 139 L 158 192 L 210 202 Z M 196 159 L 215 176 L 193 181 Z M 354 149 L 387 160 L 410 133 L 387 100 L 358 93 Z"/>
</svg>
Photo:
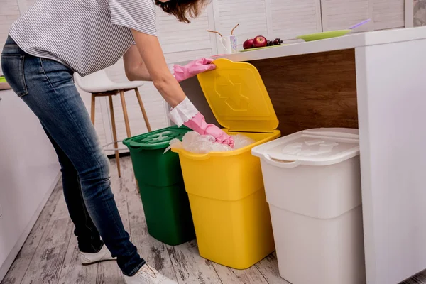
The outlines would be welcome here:
<svg viewBox="0 0 426 284">
<path fill-rule="evenodd" d="M 245 269 L 275 250 L 260 160 L 251 148 L 280 136 L 278 119 L 256 67 L 218 59 L 198 76 L 224 131 L 256 143 L 227 152 L 179 153 L 200 255 Z"/>
</svg>

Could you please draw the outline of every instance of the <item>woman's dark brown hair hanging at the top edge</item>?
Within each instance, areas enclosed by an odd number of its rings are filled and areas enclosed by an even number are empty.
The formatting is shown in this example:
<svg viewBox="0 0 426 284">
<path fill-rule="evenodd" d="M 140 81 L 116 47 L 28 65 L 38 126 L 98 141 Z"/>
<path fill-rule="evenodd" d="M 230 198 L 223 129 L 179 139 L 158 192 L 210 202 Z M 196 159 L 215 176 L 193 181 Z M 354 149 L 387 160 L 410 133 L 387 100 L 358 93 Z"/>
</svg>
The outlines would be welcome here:
<svg viewBox="0 0 426 284">
<path fill-rule="evenodd" d="M 180 22 L 184 23 L 190 23 L 188 16 L 197 18 L 208 3 L 209 0 L 170 0 L 165 3 L 155 0 L 155 4 L 165 13 L 175 16 Z"/>
</svg>

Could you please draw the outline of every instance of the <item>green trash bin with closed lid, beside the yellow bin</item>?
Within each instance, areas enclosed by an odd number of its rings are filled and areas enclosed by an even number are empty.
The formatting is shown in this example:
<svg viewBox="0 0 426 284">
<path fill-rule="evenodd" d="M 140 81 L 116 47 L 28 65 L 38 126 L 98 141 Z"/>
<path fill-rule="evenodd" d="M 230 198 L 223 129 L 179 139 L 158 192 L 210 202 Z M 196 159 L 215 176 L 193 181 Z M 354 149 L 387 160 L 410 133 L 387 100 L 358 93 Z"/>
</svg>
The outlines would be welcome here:
<svg viewBox="0 0 426 284">
<path fill-rule="evenodd" d="M 195 239 L 179 155 L 164 153 L 172 139 L 182 141 L 188 131 L 185 126 L 171 126 L 123 141 L 130 150 L 148 233 L 170 246 Z"/>
</svg>

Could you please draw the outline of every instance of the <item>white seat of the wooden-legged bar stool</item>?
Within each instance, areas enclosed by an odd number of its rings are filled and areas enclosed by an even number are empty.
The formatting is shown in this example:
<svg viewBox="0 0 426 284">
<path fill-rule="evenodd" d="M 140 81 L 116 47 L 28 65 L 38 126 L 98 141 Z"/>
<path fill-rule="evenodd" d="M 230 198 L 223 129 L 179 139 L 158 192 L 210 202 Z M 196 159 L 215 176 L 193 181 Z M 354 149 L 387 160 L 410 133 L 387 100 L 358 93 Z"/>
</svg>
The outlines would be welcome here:
<svg viewBox="0 0 426 284">
<path fill-rule="evenodd" d="M 135 89 L 143 86 L 143 81 L 129 81 L 124 83 L 112 82 L 109 80 L 105 70 L 100 70 L 84 77 L 75 73 L 74 77 L 77 85 L 84 92 L 88 93 L 102 93 L 115 91 L 117 89 Z"/>
</svg>

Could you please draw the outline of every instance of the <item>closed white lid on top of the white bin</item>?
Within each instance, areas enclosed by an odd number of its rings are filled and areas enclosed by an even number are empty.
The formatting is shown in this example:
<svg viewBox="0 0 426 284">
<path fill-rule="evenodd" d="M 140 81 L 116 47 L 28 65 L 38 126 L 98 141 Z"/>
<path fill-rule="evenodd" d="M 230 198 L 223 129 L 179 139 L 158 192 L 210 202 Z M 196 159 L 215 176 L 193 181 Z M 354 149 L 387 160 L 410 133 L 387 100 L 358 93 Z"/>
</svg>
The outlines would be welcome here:
<svg viewBox="0 0 426 284">
<path fill-rule="evenodd" d="M 285 168 L 333 165 L 359 155 L 359 133 L 358 129 L 309 129 L 257 146 L 252 153 Z"/>
</svg>

